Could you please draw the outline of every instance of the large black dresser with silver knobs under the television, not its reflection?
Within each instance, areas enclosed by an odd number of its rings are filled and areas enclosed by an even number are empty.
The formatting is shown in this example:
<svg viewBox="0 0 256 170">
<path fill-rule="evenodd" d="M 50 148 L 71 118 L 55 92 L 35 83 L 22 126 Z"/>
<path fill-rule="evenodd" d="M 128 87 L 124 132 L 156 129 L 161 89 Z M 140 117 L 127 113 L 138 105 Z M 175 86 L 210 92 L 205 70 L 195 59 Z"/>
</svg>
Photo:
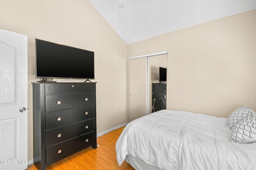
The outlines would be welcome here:
<svg viewBox="0 0 256 170">
<path fill-rule="evenodd" d="M 32 84 L 36 168 L 44 170 L 86 147 L 96 149 L 96 83 Z"/>
</svg>

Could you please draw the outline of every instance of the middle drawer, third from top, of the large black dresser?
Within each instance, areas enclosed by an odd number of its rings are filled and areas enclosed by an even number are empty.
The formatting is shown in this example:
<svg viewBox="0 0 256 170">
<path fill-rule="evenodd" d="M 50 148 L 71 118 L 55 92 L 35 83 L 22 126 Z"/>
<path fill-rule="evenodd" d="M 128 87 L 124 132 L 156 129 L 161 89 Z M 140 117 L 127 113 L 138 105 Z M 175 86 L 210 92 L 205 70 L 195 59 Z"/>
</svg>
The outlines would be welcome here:
<svg viewBox="0 0 256 170">
<path fill-rule="evenodd" d="M 78 107 L 45 113 L 45 128 L 52 129 L 94 118 L 94 106 Z"/>
</svg>

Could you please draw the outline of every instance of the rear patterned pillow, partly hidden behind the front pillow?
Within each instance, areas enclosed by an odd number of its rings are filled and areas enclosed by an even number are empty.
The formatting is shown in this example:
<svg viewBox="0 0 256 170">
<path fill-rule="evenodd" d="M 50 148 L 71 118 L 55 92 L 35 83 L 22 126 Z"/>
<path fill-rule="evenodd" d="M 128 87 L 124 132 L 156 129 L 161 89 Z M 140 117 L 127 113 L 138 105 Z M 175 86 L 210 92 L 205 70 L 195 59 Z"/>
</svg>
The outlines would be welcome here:
<svg viewBox="0 0 256 170">
<path fill-rule="evenodd" d="M 250 118 L 250 117 L 256 117 L 256 113 L 252 109 L 250 109 L 246 106 L 238 107 L 228 117 L 228 120 L 227 120 L 228 125 L 230 126 L 230 128 L 232 130 L 236 126 L 237 123 L 239 123 L 243 119 Z"/>
</svg>

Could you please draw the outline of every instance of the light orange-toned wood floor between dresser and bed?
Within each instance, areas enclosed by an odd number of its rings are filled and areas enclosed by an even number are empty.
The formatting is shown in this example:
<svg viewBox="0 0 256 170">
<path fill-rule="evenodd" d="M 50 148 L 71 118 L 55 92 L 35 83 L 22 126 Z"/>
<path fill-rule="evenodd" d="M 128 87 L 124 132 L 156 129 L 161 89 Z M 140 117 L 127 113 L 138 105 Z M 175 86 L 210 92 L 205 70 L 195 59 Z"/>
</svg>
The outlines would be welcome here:
<svg viewBox="0 0 256 170">
<path fill-rule="evenodd" d="M 81 150 L 46 167 L 46 170 L 134 170 L 130 164 L 116 161 L 116 140 L 124 127 L 97 138 L 97 149 L 92 147 Z M 36 170 L 34 164 L 28 170 Z"/>
</svg>

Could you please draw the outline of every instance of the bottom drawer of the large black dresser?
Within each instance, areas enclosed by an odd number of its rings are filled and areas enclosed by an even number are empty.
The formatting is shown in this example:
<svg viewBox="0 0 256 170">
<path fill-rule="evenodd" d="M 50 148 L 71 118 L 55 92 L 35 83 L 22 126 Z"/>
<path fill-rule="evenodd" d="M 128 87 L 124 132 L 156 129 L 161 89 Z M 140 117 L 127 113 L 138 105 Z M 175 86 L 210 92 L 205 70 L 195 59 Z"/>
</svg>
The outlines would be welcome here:
<svg viewBox="0 0 256 170">
<path fill-rule="evenodd" d="M 46 165 L 52 164 L 74 152 L 94 144 L 94 133 L 88 133 L 69 141 L 46 148 Z M 60 153 L 58 153 L 60 152 Z"/>
</svg>

